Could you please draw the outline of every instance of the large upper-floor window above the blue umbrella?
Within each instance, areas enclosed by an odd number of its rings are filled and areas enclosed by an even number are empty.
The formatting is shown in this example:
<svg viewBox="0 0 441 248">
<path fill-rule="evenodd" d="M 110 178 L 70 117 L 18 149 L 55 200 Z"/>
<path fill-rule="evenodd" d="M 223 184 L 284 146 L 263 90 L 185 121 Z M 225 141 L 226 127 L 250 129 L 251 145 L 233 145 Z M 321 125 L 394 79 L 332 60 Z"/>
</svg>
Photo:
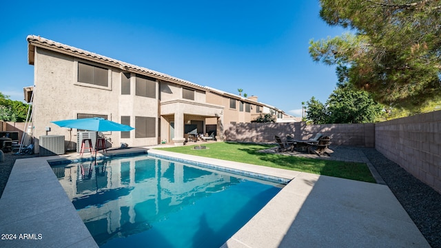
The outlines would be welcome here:
<svg viewBox="0 0 441 248">
<path fill-rule="evenodd" d="M 109 86 L 109 70 L 95 65 L 78 62 L 79 83 L 90 83 L 103 87 Z"/>
</svg>

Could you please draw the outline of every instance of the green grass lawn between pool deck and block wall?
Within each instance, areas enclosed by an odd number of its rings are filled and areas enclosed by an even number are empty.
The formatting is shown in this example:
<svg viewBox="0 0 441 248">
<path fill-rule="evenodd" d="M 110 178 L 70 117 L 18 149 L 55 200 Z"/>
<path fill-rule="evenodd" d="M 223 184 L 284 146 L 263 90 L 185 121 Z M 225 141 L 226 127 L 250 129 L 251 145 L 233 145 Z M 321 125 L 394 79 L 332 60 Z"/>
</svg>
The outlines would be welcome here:
<svg viewBox="0 0 441 248">
<path fill-rule="evenodd" d="M 196 150 L 195 145 L 184 145 L 181 147 L 156 148 L 170 152 L 218 158 L 226 161 L 249 163 L 252 165 L 263 165 L 283 169 L 292 169 L 300 172 L 335 176 L 375 183 L 375 179 L 364 163 L 351 163 L 342 161 L 327 161 L 314 158 L 300 158 L 296 156 L 285 156 L 280 154 L 266 154 L 258 152 L 261 149 L 274 147 L 274 145 L 258 145 L 243 143 L 207 143 L 209 149 Z"/>
</svg>

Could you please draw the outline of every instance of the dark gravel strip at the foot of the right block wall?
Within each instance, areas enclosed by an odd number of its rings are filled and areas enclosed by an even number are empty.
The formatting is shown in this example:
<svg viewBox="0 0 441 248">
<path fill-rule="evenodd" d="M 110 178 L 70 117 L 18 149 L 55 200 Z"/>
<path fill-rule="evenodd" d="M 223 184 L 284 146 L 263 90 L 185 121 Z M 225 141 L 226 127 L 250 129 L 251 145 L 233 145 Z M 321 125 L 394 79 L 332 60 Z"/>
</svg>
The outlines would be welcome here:
<svg viewBox="0 0 441 248">
<path fill-rule="evenodd" d="M 431 247 L 441 247 L 441 194 L 376 149 L 362 149 Z"/>
</svg>

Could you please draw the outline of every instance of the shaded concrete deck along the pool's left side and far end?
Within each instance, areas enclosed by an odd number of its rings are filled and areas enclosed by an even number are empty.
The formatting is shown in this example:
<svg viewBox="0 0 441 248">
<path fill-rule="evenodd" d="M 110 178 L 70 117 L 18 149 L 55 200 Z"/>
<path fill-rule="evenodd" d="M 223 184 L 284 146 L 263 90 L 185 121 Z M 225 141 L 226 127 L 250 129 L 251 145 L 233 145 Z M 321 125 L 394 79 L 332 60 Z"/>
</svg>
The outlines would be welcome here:
<svg viewBox="0 0 441 248">
<path fill-rule="evenodd" d="M 96 159 L 146 151 L 115 149 Z M 0 247 L 98 247 L 49 164 L 93 159 L 76 153 L 17 159 L 0 198 Z"/>
</svg>

